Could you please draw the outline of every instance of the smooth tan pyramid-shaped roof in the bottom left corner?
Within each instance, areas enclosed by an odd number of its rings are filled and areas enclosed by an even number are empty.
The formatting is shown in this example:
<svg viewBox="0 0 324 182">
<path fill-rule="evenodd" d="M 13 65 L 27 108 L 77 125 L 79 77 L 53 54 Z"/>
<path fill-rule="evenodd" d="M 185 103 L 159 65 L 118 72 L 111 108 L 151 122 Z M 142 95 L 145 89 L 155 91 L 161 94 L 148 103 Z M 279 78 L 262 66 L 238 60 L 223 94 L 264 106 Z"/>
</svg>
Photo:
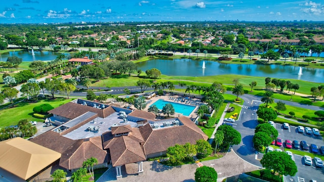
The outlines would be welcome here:
<svg viewBox="0 0 324 182">
<path fill-rule="evenodd" d="M 0 142 L 0 167 L 24 180 L 60 157 L 60 153 L 20 137 Z"/>
</svg>

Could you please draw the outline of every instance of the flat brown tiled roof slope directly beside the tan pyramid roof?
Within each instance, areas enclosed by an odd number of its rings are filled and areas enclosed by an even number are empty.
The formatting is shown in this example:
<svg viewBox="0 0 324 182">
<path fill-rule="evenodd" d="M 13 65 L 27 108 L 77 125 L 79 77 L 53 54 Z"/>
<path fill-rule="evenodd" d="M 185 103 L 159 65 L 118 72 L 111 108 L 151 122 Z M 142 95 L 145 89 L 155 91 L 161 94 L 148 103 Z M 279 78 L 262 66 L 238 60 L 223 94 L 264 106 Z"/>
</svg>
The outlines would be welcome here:
<svg viewBox="0 0 324 182">
<path fill-rule="evenodd" d="M 66 149 L 71 148 L 75 141 L 61 136 L 59 133 L 49 130 L 41 135 L 30 139 L 31 142 L 52 149 L 58 153 L 63 153 Z"/>
</svg>

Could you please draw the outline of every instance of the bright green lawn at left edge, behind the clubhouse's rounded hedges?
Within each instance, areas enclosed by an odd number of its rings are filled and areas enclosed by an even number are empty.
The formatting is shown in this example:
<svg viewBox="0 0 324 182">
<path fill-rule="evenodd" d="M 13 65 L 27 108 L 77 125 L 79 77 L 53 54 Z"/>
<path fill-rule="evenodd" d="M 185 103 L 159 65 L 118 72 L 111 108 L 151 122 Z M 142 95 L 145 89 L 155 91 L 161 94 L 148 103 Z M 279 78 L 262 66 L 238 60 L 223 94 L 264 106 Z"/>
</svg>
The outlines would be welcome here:
<svg viewBox="0 0 324 182">
<path fill-rule="evenodd" d="M 57 108 L 65 103 L 70 102 L 71 100 L 74 99 L 56 98 L 55 100 L 42 100 L 38 101 L 37 103 L 20 102 L 16 104 L 14 108 L 0 110 L 0 127 L 17 125 L 19 120 L 21 119 L 28 119 L 30 121 L 44 121 L 44 119 L 37 119 L 32 117 L 32 109 L 34 107 L 42 104 L 50 104 L 54 108 Z"/>
</svg>

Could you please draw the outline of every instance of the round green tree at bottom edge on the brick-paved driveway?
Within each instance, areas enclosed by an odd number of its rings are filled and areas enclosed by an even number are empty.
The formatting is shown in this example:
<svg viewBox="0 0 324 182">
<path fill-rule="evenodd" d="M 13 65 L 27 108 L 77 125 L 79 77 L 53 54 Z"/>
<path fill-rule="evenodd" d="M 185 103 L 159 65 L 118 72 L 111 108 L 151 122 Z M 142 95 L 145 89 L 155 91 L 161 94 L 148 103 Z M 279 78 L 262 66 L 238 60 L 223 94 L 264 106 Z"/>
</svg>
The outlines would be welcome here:
<svg viewBox="0 0 324 182">
<path fill-rule="evenodd" d="M 198 167 L 194 173 L 194 180 L 196 182 L 216 182 L 217 172 L 213 167 Z"/>
</svg>

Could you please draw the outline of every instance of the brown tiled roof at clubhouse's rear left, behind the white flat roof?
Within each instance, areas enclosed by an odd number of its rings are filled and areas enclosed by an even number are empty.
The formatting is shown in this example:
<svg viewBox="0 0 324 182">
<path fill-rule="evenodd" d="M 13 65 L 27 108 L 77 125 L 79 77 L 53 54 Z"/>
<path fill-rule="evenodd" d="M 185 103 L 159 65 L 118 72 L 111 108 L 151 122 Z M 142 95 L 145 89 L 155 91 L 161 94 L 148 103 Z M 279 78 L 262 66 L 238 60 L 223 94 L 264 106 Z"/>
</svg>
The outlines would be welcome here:
<svg viewBox="0 0 324 182">
<path fill-rule="evenodd" d="M 91 106 L 85 106 L 82 104 L 69 102 L 58 108 L 52 109 L 51 111 L 49 111 L 49 113 L 56 114 L 68 119 L 74 119 L 80 115 L 85 114 L 88 111 L 97 113 L 98 117 L 101 118 L 105 118 L 115 112 L 115 110 L 112 107 L 107 107 L 105 109 L 97 109 Z"/>
</svg>

